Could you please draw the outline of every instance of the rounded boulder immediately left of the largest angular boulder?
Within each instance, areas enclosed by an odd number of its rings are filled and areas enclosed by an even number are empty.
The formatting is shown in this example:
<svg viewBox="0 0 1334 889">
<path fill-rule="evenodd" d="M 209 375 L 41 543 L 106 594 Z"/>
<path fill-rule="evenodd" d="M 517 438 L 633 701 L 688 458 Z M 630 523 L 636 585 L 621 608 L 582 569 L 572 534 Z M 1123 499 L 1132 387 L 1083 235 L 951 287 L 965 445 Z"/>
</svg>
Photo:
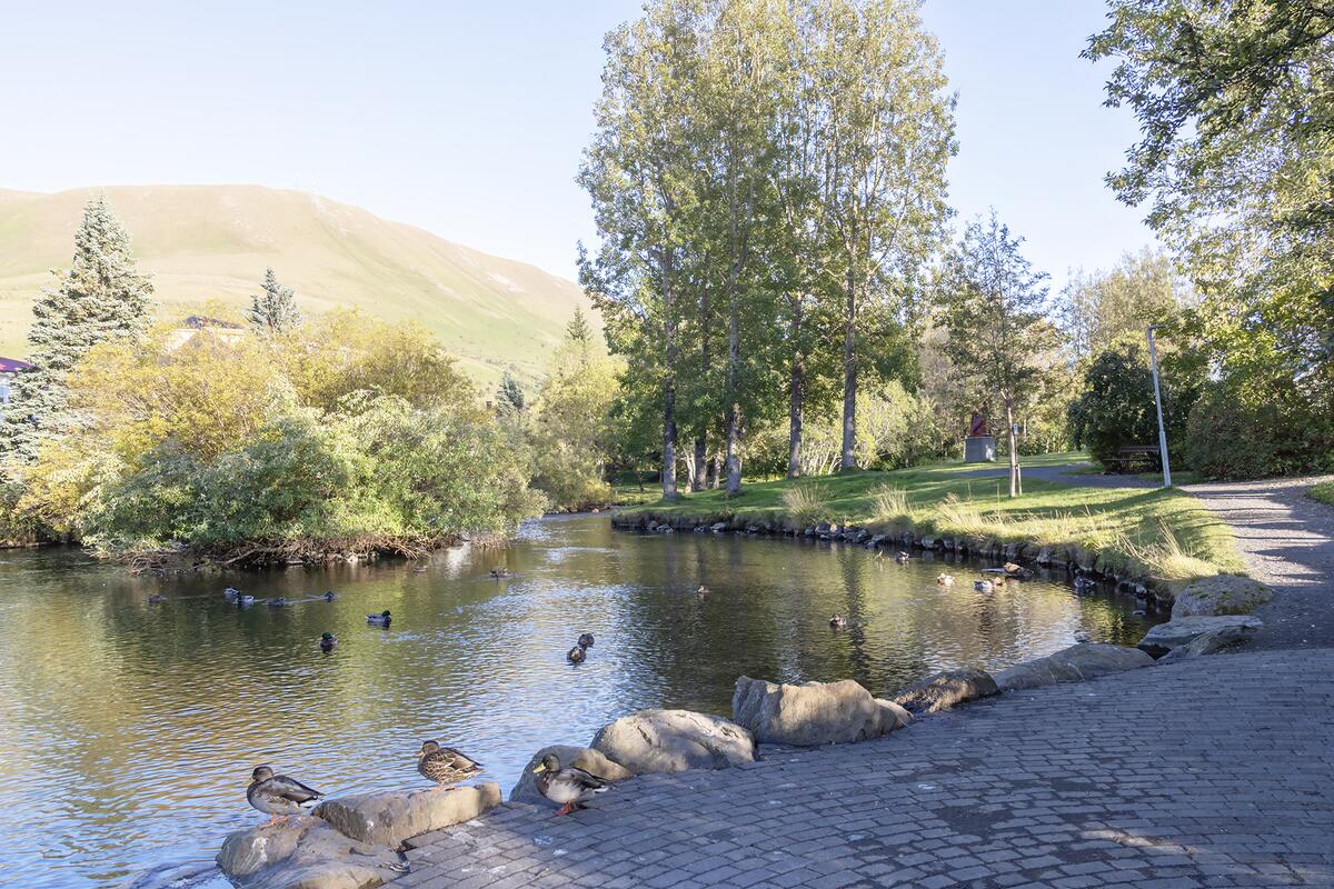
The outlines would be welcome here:
<svg viewBox="0 0 1334 889">
<path fill-rule="evenodd" d="M 755 760 L 751 733 L 718 716 L 639 710 L 602 726 L 590 745 L 631 774 L 726 769 Z"/>
</svg>

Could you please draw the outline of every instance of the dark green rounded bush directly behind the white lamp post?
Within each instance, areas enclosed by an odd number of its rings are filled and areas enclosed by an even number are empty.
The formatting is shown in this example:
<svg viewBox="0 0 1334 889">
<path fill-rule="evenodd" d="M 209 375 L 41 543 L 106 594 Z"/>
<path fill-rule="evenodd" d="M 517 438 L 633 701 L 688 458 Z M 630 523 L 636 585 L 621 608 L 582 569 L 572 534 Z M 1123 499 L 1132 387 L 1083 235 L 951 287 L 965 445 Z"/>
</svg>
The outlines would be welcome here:
<svg viewBox="0 0 1334 889">
<path fill-rule="evenodd" d="M 1181 454 L 1201 379 L 1181 363 L 1162 361 L 1163 427 L 1169 453 Z M 1079 397 L 1070 404 L 1075 443 L 1110 465 L 1121 448 L 1158 444 L 1158 411 L 1149 349 L 1129 333 L 1089 363 Z"/>
</svg>

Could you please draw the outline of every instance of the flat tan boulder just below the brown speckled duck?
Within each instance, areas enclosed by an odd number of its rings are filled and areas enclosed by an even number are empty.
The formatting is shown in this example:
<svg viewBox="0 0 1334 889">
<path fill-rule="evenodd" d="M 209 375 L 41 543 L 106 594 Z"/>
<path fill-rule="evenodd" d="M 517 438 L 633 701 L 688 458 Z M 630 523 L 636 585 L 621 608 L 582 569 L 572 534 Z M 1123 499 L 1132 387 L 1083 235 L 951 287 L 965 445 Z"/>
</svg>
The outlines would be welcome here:
<svg viewBox="0 0 1334 889">
<path fill-rule="evenodd" d="M 500 805 L 500 785 L 486 781 L 454 789 L 387 790 L 325 800 L 315 814 L 344 836 L 398 848 L 408 837 L 470 821 Z"/>
</svg>

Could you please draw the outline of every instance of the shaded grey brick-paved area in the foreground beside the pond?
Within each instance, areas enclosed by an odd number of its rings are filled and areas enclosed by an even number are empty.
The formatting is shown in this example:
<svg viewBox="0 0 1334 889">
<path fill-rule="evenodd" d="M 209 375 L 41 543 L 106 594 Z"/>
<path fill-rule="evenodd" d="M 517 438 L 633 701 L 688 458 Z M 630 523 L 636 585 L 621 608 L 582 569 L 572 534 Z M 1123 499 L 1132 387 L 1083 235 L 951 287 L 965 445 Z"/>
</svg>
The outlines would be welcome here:
<svg viewBox="0 0 1334 889">
<path fill-rule="evenodd" d="M 395 889 L 1334 886 L 1334 650 L 1015 692 L 415 842 Z"/>
</svg>

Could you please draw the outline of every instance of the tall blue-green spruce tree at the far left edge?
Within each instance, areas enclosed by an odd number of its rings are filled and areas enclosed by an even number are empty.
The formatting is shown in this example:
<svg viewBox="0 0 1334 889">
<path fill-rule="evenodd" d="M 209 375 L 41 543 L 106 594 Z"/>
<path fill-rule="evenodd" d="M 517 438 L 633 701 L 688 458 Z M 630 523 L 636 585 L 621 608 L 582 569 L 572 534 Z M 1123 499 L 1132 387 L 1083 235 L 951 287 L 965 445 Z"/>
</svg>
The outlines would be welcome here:
<svg viewBox="0 0 1334 889">
<path fill-rule="evenodd" d="M 148 324 L 153 285 L 139 272 L 129 233 L 103 195 L 84 207 L 75 257 L 55 289 L 43 289 L 28 331 L 33 369 L 15 380 L 0 456 L 32 462 L 41 444 L 79 423 L 69 409 L 68 376 L 88 351 L 117 337 L 137 336 Z"/>
</svg>

